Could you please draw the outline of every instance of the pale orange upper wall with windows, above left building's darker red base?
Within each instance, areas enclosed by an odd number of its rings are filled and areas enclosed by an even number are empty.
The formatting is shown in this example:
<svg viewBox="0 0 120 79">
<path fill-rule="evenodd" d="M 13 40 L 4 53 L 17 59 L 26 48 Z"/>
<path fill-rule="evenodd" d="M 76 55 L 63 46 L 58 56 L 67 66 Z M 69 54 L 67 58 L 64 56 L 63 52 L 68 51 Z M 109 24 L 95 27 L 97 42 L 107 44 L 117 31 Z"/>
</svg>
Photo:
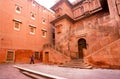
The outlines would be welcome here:
<svg viewBox="0 0 120 79">
<path fill-rule="evenodd" d="M 53 14 L 34 0 L 0 0 L 0 17 L 1 48 L 37 51 L 52 41 Z"/>
</svg>

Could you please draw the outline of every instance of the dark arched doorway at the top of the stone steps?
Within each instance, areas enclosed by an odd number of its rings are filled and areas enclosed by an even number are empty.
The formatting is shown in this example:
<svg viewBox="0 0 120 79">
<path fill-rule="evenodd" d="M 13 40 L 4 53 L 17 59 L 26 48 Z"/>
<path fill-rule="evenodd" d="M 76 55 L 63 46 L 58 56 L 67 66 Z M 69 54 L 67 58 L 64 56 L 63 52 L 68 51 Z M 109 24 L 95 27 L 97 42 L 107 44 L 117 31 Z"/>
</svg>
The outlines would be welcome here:
<svg viewBox="0 0 120 79">
<path fill-rule="evenodd" d="M 83 49 L 86 49 L 86 40 L 81 38 L 78 40 L 78 58 L 83 59 Z"/>
</svg>

